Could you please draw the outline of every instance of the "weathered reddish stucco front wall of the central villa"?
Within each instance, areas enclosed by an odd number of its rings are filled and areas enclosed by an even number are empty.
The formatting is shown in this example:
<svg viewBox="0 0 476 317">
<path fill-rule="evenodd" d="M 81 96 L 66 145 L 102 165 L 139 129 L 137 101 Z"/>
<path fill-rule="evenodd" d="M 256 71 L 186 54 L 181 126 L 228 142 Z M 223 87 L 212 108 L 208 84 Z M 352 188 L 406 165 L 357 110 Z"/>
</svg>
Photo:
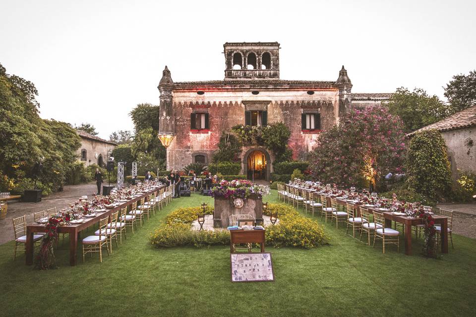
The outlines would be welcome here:
<svg viewBox="0 0 476 317">
<path fill-rule="evenodd" d="M 289 127 L 291 137 L 288 145 L 295 159 L 311 151 L 317 145 L 319 136 L 319 131 L 301 131 L 303 111 L 319 111 L 321 130 L 336 124 L 339 97 L 335 88 L 315 90 L 314 95 L 308 95 L 307 89 L 260 91 L 259 95 L 253 95 L 249 89 L 208 91 L 204 95 L 197 95 L 197 90 L 200 88 L 193 92 L 178 91 L 173 94 L 176 138 L 168 149 L 168 168 L 181 169 L 191 163 L 198 153 L 206 154 L 206 161 L 211 161 L 222 132 L 229 131 L 237 124 L 244 124 L 245 109 L 254 103 L 259 103 L 268 111 L 268 123 L 283 122 Z M 209 130 L 190 131 L 192 111 L 209 113 Z M 244 152 L 238 155 L 242 158 Z M 242 172 L 245 173 L 244 170 Z"/>
</svg>

